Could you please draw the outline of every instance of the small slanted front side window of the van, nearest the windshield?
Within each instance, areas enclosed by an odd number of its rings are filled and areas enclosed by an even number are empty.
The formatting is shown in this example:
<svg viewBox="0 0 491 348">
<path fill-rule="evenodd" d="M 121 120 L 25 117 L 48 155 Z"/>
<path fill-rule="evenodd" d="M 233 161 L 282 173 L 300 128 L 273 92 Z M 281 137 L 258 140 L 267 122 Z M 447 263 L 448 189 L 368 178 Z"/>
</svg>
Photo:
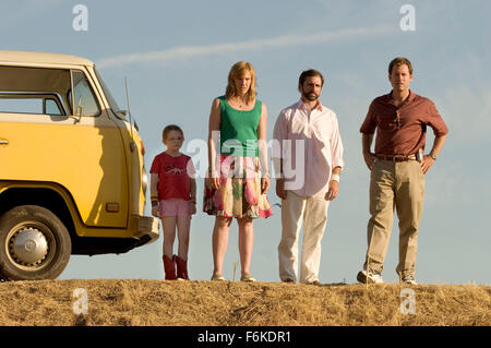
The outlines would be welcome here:
<svg viewBox="0 0 491 348">
<path fill-rule="evenodd" d="M 98 116 L 100 113 L 99 105 L 94 96 L 91 84 L 82 71 L 72 71 L 73 94 L 75 101 L 73 104 L 74 115 Z M 69 96 L 71 99 L 71 96 Z"/>
</svg>

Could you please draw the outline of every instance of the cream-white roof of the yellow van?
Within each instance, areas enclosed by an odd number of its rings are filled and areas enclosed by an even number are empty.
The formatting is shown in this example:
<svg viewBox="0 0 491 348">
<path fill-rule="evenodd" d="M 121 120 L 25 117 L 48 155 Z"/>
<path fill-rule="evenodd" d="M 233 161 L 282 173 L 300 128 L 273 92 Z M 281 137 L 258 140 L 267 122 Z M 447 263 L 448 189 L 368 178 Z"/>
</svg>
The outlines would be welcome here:
<svg viewBox="0 0 491 348">
<path fill-rule="evenodd" d="M 0 50 L 0 62 L 94 65 L 92 60 L 76 56 L 10 50 Z"/>
</svg>

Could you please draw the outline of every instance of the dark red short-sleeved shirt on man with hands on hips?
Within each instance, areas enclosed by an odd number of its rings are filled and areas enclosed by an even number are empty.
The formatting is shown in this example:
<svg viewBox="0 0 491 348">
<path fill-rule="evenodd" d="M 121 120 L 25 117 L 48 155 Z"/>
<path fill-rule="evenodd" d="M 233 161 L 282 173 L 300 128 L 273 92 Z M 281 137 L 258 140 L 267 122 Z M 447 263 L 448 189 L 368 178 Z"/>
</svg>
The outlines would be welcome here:
<svg viewBox="0 0 491 348">
<path fill-rule="evenodd" d="M 376 130 L 378 155 L 412 155 L 424 149 L 428 125 L 435 136 L 448 132 L 433 101 L 409 91 L 409 96 L 397 107 L 391 92 L 373 99 L 360 132 L 373 134 Z"/>
</svg>

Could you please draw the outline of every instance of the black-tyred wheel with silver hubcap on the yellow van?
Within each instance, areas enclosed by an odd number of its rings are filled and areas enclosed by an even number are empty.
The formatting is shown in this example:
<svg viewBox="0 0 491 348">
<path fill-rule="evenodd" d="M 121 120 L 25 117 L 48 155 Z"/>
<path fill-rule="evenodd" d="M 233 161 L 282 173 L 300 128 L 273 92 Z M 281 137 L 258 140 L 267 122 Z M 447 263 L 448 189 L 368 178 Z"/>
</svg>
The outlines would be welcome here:
<svg viewBox="0 0 491 348">
<path fill-rule="evenodd" d="M 0 278 L 55 279 L 71 252 L 67 227 L 44 207 L 21 205 L 0 217 Z"/>
</svg>

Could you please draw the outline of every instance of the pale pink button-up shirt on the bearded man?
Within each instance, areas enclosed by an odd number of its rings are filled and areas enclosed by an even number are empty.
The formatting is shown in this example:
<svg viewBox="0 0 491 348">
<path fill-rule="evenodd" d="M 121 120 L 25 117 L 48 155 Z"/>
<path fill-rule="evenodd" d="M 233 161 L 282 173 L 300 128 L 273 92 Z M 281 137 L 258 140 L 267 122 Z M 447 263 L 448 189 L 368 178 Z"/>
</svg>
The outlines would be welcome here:
<svg viewBox="0 0 491 348">
<path fill-rule="evenodd" d="M 300 196 L 324 196 L 333 168 L 344 167 L 336 113 L 320 101 L 311 110 L 300 99 L 279 112 L 273 140 L 275 171 L 285 178 L 285 190 Z M 283 159 L 282 171 L 277 158 Z"/>
</svg>

